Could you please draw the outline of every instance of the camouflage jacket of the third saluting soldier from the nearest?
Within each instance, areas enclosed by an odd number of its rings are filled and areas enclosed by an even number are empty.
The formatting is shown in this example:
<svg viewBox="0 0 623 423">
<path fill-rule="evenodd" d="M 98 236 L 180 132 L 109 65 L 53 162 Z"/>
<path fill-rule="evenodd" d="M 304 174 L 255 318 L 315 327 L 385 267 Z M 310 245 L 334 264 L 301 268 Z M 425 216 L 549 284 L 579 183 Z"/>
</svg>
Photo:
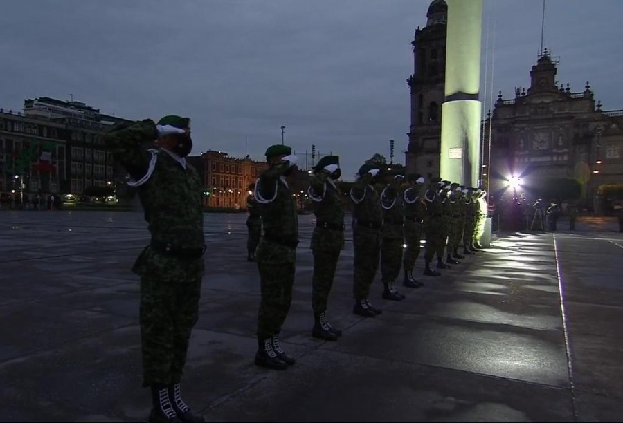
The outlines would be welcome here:
<svg viewBox="0 0 623 423">
<path fill-rule="evenodd" d="M 344 246 L 343 198 L 328 173 L 311 176 L 307 194 L 314 203 L 316 227 L 311 234 L 312 250 L 339 251 Z"/>
</svg>

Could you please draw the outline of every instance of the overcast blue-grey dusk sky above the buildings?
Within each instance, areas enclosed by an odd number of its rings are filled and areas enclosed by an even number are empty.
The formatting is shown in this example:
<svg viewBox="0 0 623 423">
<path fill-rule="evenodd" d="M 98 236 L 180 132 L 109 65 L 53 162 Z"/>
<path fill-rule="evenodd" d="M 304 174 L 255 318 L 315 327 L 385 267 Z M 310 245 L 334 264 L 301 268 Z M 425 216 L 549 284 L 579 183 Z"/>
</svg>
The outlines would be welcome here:
<svg viewBox="0 0 623 423">
<path fill-rule="evenodd" d="M 469 1 L 469 0 L 465 0 Z M 404 163 L 413 73 L 410 41 L 426 25 L 417 0 L 3 0 L 0 106 L 24 98 L 86 102 L 129 119 L 192 119 L 193 154 L 262 159 L 285 141 L 341 156 L 345 179 L 376 152 Z M 541 0 L 485 0 L 482 30 L 498 90 L 529 86 Z M 546 0 L 545 46 L 558 79 L 604 110 L 623 109 L 623 1 Z M 487 28 L 489 47 L 485 49 Z M 495 48 L 493 46 L 495 42 Z M 494 63 L 491 59 L 494 57 Z M 311 158 L 309 159 L 311 162 Z M 303 164 L 304 166 L 304 164 Z"/>
</svg>

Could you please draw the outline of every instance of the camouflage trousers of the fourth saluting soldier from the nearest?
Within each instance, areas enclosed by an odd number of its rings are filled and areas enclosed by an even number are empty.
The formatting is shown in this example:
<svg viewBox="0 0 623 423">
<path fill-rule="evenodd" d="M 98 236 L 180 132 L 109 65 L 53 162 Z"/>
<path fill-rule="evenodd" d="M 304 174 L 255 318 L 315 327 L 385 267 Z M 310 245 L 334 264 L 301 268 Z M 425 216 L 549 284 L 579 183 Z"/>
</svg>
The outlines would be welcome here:
<svg viewBox="0 0 623 423">
<path fill-rule="evenodd" d="M 367 299 L 370 285 L 377 276 L 381 259 L 381 232 L 374 229 L 354 227 L 353 296 L 356 300 Z"/>
</svg>

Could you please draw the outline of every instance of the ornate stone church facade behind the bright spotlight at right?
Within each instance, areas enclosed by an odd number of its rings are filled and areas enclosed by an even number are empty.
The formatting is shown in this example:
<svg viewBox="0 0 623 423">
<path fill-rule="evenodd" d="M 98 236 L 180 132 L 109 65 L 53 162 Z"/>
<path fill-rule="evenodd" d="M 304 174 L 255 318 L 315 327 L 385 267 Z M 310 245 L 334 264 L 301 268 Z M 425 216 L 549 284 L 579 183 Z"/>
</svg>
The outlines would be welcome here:
<svg viewBox="0 0 623 423">
<path fill-rule="evenodd" d="M 516 88 L 509 99 L 500 91 L 483 129 L 483 177 L 490 176 L 492 191 L 502 192 L 511 176 L 522 178 L 525 191 L 544 178 L 577 178 L 590 207 L 599 185 L 623 182 L 623 110 L 602 110 L 588 82 L 577 92 L 561 84 L 547 50 L 532 66 L 527 90 Z"/>
</svg>

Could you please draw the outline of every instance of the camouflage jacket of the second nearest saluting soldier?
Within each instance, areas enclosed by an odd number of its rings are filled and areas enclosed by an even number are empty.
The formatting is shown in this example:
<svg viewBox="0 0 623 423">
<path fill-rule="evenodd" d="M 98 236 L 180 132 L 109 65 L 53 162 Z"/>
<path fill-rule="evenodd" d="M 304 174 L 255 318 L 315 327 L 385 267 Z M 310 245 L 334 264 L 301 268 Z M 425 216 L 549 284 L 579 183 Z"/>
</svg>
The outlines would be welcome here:
<svg viewBox="0 0 623 423">
<path fill-rule="evenodd" d="M 288 163 L 273 164 L 255 182 L 264 234 L 255 256 L 264 263 L 294 263 L 298 245 L 298 215 L 283 174 Z"/>
</svg>

